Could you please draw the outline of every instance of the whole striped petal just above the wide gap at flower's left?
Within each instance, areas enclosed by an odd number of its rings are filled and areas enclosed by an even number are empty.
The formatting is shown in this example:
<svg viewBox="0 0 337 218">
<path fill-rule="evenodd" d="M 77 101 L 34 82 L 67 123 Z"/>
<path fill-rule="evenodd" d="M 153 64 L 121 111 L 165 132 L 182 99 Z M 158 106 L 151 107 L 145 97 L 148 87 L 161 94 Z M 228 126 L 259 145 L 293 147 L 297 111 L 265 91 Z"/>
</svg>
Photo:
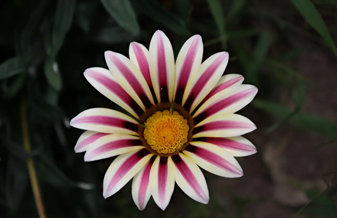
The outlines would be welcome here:
<svg viewBox="0 0 337 218">
<path fill-rule="evenodd" d="M 85 78 L 98 92 L 115 102 L 135 117 L 144 113 L 143 109 L 125 92 L 112 77 L 108 69 L 93 67 L 84 72 Z"/>
</svg>

